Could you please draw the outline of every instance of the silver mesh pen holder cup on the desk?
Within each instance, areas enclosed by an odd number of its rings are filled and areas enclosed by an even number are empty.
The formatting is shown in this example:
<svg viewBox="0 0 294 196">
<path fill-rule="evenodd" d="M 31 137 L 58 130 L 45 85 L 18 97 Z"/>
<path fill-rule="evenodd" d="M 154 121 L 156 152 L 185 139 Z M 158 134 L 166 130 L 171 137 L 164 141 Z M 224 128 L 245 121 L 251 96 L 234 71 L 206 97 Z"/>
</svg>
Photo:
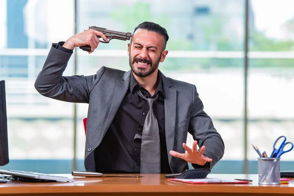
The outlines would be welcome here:
<svg viewBox="0 0 294 196">
<path fill-rule="evenodd" d="M 280 158 L 258 158 L 258 184 L 278 185 L 280 178 Z"/>
</svg>

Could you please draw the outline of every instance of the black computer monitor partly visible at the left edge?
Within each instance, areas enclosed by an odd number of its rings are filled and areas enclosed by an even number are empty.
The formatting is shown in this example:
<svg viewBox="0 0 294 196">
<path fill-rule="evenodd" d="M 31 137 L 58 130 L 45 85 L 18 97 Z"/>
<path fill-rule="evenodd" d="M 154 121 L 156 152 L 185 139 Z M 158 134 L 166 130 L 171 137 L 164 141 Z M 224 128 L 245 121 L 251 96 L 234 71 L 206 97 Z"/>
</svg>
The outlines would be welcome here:
<svg viewBox="0 0 294 196">
<path fill-rule="evenodd" d="M 9 162 L 8 137 L 7 137 L 7 115 L 5 98 L 5 81 L 0 81 L 0 166 Z"/>
</svg>

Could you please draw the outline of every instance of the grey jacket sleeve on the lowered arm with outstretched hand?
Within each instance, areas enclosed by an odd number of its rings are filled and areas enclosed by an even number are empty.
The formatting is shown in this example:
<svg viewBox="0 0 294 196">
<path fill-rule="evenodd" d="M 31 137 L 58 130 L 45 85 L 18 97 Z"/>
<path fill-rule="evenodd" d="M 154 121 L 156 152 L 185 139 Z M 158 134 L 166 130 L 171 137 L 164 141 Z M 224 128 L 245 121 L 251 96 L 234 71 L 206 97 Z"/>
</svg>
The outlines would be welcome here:
<svg viewBox="0 0 294 196">
<path fill-rule="evenodd" d="M 195 85 L 193 85 L 193 108 L 189 124 L 189 133 L 193 135 L 199 147 L 205 146 L 205 156 L 212 159 L 212 162 L 204 166 L 192 164 L 193 167 L 213 168 L 224 154 L 224 143 L 221 135 L 215 129 L 211 118 L 203 111 L 203 103 L 199 98 Z"/>
</svg>

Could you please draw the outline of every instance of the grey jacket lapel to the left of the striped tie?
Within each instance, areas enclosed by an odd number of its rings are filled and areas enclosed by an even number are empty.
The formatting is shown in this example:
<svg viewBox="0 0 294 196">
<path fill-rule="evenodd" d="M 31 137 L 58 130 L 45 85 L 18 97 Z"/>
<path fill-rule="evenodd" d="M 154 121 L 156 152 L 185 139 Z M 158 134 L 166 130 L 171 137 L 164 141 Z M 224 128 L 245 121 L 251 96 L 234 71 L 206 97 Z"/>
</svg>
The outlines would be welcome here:
<svg viewBox="0 0 294 196">
<path fill-rule="evenodd" d="M 110 124 L 112 123 L 112 121 L 113 121 L 122 101 L 123 101 L 123 98 L 127 92 L 127 89 L 129 87 L 129 83 L 130 83 L 130 74 L 131 74 L 131 71 L 129 70 L 128 72 L 124 73 L 122 75 L 122 77 L 116 81 L 116 85 L 114 88 L 114 95 L 112 98 L 112 104 L 111 104 L 111 108 L 110 108 L 110 111 L 108 114 L 106 130 L 108 130 Z"/>
</svg>

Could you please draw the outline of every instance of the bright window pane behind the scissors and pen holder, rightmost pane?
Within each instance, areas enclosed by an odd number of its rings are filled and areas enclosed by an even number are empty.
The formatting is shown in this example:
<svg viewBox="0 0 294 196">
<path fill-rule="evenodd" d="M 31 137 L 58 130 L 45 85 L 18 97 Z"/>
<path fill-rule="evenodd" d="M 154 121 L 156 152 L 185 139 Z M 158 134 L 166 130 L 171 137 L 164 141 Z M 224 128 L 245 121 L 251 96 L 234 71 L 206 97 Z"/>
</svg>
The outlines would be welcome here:
<svg viewBox="0 0 294 196">
<path fill-rule="evenodd" d="M 270 155 L 280 135 L 294 141 L 294 3 L 288 0 L 250 3 L 254 20 L 249 25 L 248 143 Z M 249 145 L 248 157 L 257 158 Z M 291 170 L 289 161 L 294 160 L 293 152 L 281 158 L 281 170 Z"/>
</svg>

